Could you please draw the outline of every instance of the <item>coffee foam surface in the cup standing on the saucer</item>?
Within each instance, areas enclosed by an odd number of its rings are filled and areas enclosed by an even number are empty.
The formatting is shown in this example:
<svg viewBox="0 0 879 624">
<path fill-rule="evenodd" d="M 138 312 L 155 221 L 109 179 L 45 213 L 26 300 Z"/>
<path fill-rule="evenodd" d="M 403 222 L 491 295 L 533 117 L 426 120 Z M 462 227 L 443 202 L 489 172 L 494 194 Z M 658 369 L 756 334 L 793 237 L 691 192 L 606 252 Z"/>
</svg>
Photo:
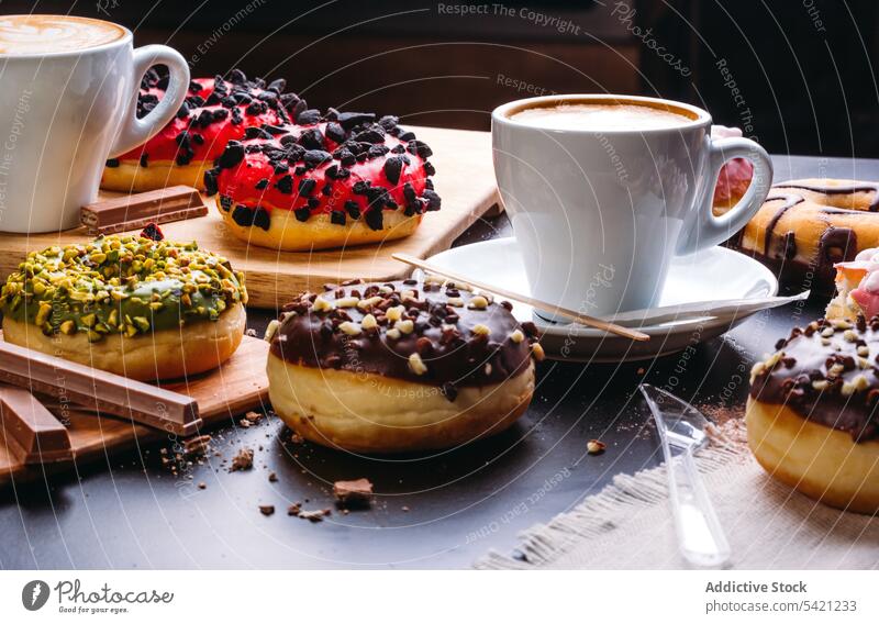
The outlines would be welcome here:
<svg viewBox="0 0 879 624">
<path fill-rule="evenodd" d="M 632 103 L 559 103 L 523 109 L 513 121 L 547 130 L 657 130 L 677 127 L 691 118 L 667 109 Z"/>
</svg>

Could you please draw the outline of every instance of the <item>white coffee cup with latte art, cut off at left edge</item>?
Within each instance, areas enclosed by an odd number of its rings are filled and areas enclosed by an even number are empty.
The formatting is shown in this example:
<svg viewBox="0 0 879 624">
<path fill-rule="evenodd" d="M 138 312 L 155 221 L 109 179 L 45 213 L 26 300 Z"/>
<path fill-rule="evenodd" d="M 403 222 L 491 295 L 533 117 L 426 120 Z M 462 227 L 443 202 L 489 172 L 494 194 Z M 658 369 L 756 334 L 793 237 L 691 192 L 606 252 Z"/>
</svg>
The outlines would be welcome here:
<svg viewBox="0 0 879 624">
<path fill-rule="evenodd" d="M 170 82 L 136 118 L 153 65 Z M 69 15 L 0 16 L 0 231 L 57 232 L 79 223 L 108 157 L 136 147 L 180 108 L 189 67 L 164 45 L 133 48 L 118 24 Z"/>
</svg>

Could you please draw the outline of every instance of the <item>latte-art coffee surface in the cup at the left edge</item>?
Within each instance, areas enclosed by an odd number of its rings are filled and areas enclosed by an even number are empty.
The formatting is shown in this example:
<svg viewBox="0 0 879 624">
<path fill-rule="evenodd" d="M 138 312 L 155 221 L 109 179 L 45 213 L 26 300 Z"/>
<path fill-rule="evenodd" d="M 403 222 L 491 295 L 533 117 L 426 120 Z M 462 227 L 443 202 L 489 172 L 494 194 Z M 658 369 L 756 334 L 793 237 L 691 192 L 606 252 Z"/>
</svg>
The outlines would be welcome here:
<svg viewBox="0 0 879 624">
<path fill-rule="evenodd" d="M 125 29 L 74 15 L 0 16 L 0 54 L 51 54 L 88 49 L 121 40 Z"/>
</svg>

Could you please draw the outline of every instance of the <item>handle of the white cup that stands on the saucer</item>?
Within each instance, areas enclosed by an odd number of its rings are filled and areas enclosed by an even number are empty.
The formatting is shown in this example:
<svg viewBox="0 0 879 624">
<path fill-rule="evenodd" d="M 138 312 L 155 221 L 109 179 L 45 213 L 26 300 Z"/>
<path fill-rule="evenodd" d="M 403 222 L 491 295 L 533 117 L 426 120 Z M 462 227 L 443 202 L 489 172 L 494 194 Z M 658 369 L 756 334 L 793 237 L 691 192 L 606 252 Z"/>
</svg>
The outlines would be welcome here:
<svg viewBox="0 0 879 624">
<path fill-rule="evenodd" d="M 678 245 L 680 256 L 713 247 L 743 229 L 763 205 L 772 182 L 772 160 L 766 149 L 754 141 L 739 137 L 706 137 L 706 141 L 710 142 L 708 179 L 711 185 L 705 189 L 702 205 L 696 215 L 699 221 Z M 754 165 L 754 177 L 742 199 L 725 214 L 714 216 L 714 186 L 717 183 L 721 167 L 733 158 L 750 160 Z"/>
</svg>

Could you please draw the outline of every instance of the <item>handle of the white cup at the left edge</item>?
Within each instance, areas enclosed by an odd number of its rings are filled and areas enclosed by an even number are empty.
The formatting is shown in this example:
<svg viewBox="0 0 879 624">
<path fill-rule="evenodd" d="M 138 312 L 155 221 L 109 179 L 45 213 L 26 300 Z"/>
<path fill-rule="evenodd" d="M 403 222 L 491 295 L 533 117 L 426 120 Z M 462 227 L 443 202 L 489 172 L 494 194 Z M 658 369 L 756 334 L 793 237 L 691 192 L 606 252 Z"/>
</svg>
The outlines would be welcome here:
<svg viewBox="0 0 879 624">
<path fill-rule="evenodd" d="M 165 97 L 143 119 L 137 119 L 137 89 L 146 70 L 154 65 L 168 67 L 169 81 Z M 189 66 L 180 53 L 165 45 L 145 45 L 134 51 L 134 96 L 127 111 L 127 122 L 116 136 L 110 158 L 146 143 L 177 113 L 189 91 Z"/>
</svg>

